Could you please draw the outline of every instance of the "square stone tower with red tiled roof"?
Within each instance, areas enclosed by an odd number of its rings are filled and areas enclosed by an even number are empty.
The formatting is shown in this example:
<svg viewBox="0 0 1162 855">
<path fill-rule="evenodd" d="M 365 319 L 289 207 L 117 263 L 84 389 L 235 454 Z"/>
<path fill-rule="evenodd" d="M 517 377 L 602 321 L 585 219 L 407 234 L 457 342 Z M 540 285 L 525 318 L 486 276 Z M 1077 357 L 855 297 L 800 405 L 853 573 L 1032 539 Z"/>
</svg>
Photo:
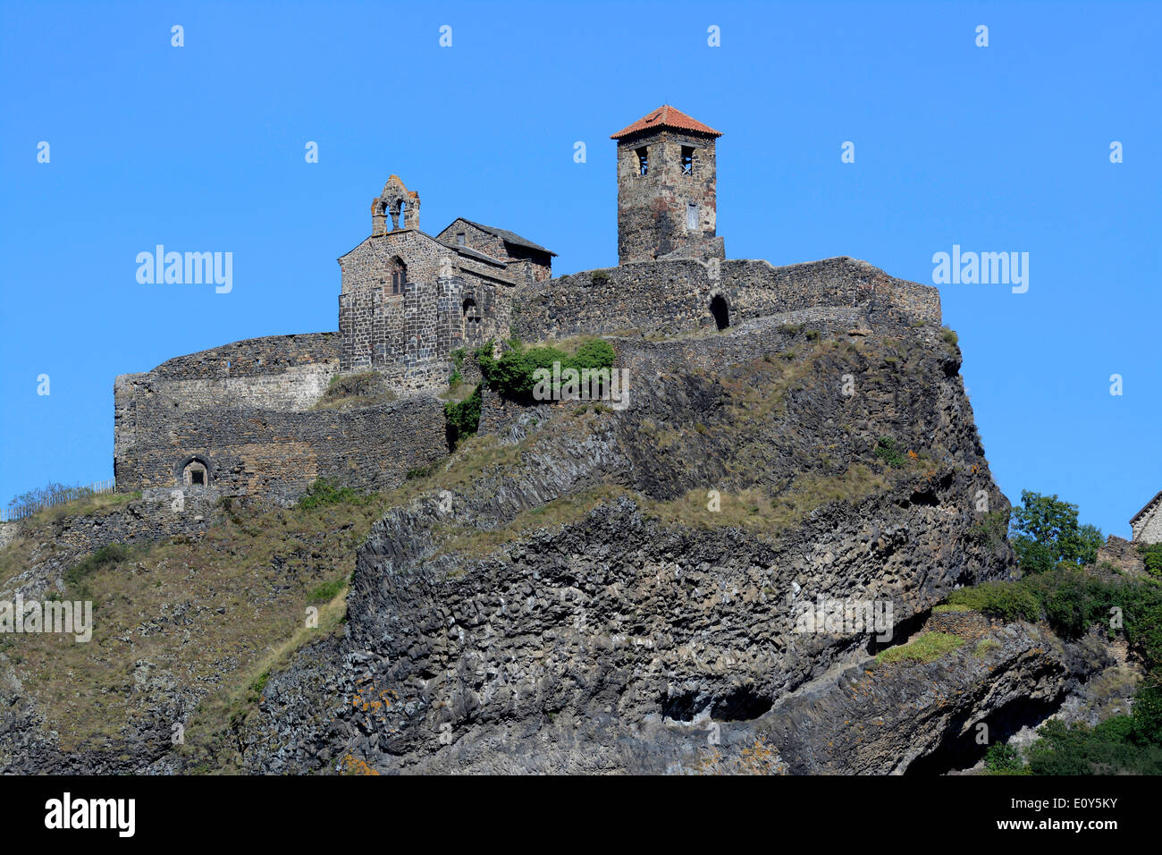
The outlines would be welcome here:
<svg viewBox="0 0 1162 855">
<path fill-rule="evenodd" d="M 722 134 L 669 105 L 617 140 L 617 261 L 723 258 L 716 237 L 715 140 Z"/>
</svg>

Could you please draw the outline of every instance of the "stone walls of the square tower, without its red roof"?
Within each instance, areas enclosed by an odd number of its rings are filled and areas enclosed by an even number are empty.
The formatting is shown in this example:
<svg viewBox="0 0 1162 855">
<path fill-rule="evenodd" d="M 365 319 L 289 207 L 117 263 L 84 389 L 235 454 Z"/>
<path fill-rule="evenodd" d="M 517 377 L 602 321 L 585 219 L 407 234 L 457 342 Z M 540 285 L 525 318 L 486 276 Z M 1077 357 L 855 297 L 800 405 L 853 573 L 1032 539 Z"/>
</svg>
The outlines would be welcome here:
<svg viewBox="0 0 1162 855">
<path fill-rule="evenodd" d="M 694 149 L 690 174 L 682 170 L 682 147 Z M 638 150 L 648 154 L 641 174 Z M 717 228 L 715 141 L 697 134 L 662 130 L 636 134 L 617 143 L 617 258 L 619 264 L 652 261 L 702 244 Z M 687 206 L 697 221 L 687 223 Z"/>
</svg>

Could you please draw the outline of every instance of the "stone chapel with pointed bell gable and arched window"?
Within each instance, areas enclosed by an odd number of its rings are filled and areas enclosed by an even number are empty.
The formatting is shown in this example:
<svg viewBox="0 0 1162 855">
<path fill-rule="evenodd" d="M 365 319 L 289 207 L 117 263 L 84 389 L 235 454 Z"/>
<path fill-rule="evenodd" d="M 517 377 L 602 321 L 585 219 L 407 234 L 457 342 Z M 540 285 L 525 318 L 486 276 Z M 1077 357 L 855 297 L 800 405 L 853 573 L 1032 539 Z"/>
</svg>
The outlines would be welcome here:
<svg viewBox="0 0 1162 855">
<path fill-rule="evenodd" d="M 371 206 L 371 236 L 339 257 L 339 370 L 374 369 L 401 390 L 447 380 L 460 347 L 508 335 L 512 288 L 552 276 L 554 252 L 457 219 L 419 229 L 419 197 L 399 176 Z"/>
</svg>

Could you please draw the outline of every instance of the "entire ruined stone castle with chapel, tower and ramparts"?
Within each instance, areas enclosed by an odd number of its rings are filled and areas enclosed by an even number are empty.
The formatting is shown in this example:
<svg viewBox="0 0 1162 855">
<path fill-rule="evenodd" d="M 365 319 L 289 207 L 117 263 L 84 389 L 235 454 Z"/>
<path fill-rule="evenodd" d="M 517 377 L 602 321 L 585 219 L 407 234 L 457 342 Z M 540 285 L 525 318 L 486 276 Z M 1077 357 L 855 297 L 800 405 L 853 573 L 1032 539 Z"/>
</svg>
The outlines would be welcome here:
<svg viewBox="0 0 1162 855">
<path fill-rule="evenodd" d="M 320 477 L 389 489 L 449 453 L 437 396 L 453 352 L 514 334 L 605 336 L 622 368 L 653 371 L 662 365 L 647 337 L 659 335 L 804 320 L 841 332 L 940 323 L 934 287 L 865 262 L 726 259 L 720 136 L 668 105 L 614 134 L 618 266 L 557 278 L 554 254 L 512 231 L 458 218 L 424 233 L 419 195 L 390 176 L 372 200 L 370 236 L 338 259 L 337 333 L 234 342 L 116 378 L 117 491 L 286 503 Z M 701 361 L 716 344 L 682 347 Z M 333 378 L 368 371 L 397 400 L 317 407 Z"/>
</svg>

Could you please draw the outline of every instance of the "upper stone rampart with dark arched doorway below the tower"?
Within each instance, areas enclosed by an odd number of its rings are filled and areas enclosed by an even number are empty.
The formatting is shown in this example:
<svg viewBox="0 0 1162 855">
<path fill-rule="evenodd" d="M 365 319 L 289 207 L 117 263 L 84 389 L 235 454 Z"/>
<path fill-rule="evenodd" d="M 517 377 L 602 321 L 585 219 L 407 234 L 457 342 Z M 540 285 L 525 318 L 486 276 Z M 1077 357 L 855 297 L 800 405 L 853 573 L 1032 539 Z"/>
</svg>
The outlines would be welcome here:
<svg viewBox="0 0 1162 855">
<path fill-rule="evenodd" d="M 871 322 L 940 322 L 937 288 L 840 257 L 786 268 L 662 261 L 562 276 L 517 288 L 514 328 L 525 341 L 713 329 L 715 295 L 726 300 L 731 325 L 824 306 L 862 307 Z"/>
</svg>

